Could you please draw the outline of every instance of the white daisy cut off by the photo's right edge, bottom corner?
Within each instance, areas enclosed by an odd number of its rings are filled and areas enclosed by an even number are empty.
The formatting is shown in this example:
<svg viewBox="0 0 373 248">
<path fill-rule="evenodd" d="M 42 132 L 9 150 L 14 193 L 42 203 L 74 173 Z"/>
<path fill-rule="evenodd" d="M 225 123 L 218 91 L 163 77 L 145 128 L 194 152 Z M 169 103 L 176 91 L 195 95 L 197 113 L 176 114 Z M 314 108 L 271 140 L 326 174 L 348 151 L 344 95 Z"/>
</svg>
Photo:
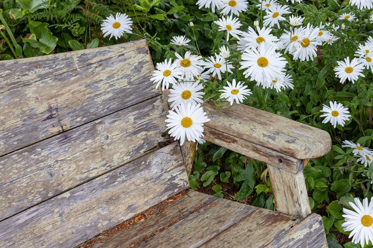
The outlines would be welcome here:
<svg viewBox="0 0 373 248">
<path fill-rule="evenodd" d="M 363 204 L 359 198 L 355 198 L 355 204 L 350 202 L 350 206 L 355 210 L 349 210 L 343 208 L 342 215 L 347 219 L 342 224 L 346 232 L 352 231 L 349 238 L 352 238 L 352 242 L 359 244 L 364 247 L 364 244 L 368 244 L 369 241 L 373 241 L 373 197 L 368 205 L 368 198 L 363 200 Z"/>
</svg>

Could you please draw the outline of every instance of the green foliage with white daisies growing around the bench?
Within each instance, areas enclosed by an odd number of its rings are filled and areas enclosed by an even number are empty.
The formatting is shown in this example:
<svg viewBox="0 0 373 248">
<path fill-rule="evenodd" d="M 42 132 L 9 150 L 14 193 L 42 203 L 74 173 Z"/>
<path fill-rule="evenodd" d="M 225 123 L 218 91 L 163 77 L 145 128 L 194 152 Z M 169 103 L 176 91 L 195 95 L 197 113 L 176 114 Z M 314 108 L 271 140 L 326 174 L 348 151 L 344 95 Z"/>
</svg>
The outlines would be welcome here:
<svg viewBox="0 0 373 248">
<path fill-rule="evenodd" d="M 178 104 L 236 101 L 328 131 L 332 151 L 304 169 L 312 211 L 329 247 L 373 247 L 373 203 L 355 201 L 373 197 L 372 8 L 372 0 L 2 0 L 0 58 L 147 39 L 155 86 L 190 94 Z M 175 120 L 172 135 L 202 143 L 192 188 L 274 209 L 265 164 L 176 132 Z M 344 209 L 356 211 L 353 202 L 368 212 L 351 242 Z"/>
</svg>

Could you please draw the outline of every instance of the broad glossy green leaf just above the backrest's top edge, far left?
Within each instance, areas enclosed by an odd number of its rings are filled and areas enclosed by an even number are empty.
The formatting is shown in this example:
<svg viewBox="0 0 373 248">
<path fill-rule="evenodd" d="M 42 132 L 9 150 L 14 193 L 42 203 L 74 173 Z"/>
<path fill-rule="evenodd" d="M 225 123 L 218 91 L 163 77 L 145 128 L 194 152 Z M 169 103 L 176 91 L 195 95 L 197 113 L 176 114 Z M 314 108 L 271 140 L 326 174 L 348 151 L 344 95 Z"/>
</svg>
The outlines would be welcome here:
<svg viewBox="0 0 373 248">
<path fill-rule="evenodd" d="M 26 39 L 22 38 L 23 42 L 28 42 L 34 48 L 39 48 L 44 54 L 49 54 L 54 50 L 58 39 L 49 31 L 48 23 L 30 21 L 27 27 L 30 28 L 31 35 Z"/>
</svg>

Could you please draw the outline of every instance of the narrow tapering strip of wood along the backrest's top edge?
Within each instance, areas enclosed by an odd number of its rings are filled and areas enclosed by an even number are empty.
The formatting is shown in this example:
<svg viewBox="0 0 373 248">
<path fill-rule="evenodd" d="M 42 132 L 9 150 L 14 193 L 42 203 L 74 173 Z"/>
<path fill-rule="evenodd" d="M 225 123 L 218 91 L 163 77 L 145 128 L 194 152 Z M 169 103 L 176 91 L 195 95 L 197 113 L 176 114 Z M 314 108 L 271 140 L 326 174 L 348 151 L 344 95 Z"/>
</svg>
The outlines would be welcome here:
<svg viewBox="0 0 373 248">
<path fill-rule="evenodd" d="M 68 71 L 79 71 L 86 65 L 103 62 L 146 46 L 145 40 L 139 40 L 68 53 L 0 61 L 0 93 Z"/>
</svg>

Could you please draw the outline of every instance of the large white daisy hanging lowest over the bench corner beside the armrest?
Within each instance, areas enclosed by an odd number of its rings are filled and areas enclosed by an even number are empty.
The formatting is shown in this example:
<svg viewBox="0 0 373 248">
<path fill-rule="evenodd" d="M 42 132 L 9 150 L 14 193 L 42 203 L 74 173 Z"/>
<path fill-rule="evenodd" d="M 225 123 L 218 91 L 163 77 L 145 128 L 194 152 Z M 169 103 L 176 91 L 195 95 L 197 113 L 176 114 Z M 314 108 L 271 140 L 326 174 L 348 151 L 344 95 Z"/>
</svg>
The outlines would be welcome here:
<svg viewBox="0 0 373 248">
<path fill-rule="evenodd" d="M 171 128 L 169 134 L 180 140 L 180 145 L 184 144 L 186 137 L 193 142 L 203 137 L 203 124 L 210 120 L 200 106 L 182 103 L 175 108 L 176 112 L 170 111 L 167 115 L 166 126 Z"/>
</svg>

